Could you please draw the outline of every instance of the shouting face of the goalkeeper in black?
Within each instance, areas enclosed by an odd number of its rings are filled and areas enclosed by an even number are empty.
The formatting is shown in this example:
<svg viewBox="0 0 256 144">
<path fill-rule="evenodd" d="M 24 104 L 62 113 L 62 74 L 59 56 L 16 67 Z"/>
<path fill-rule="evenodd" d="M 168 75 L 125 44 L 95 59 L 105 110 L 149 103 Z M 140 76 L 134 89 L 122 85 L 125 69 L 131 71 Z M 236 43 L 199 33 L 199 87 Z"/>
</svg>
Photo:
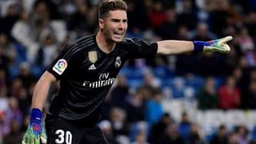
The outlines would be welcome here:
<svg viewBox="0 0 256 144">
<path fill-rule="evenodd" d="M 107 40 L 121 42 L 127 29 L 127 15 L 124 10 L 109 11 L 104 19 L 99 19 L 100 31 Z"/>
</svg>

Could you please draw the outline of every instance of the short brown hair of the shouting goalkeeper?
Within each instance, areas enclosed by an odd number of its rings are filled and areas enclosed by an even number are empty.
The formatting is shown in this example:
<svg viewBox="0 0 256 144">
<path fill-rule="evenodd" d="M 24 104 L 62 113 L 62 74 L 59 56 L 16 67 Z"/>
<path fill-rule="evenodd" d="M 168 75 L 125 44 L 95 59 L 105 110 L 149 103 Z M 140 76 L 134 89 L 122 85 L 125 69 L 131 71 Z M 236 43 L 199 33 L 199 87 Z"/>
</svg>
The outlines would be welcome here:
<svg viewBox="0 0 256 144">
<path fill-rule="evenodd" d="M 99 6 L 99 18 L 108 15 L 111 10 L 127 10 L 127 4 L 123 0 L 103 0 Z"/>
</svg>

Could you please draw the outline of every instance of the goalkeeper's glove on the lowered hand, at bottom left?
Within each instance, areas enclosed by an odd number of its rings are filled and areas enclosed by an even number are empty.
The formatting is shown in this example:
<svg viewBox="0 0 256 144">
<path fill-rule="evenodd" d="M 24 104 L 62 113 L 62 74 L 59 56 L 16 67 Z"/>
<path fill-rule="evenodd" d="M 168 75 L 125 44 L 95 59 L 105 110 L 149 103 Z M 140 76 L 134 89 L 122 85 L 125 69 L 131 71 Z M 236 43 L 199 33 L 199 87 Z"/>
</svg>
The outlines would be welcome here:
<svg viewBox="0 0 256 144">
<path fill-rule="evenodd" d="M 42 112 L 40 109 L 32 109 L 30 123 L 26 134 L 23 137 L 22 144 L 40 144 L 47 142 L 45 129 L 42 126 Z"/>
</svg>

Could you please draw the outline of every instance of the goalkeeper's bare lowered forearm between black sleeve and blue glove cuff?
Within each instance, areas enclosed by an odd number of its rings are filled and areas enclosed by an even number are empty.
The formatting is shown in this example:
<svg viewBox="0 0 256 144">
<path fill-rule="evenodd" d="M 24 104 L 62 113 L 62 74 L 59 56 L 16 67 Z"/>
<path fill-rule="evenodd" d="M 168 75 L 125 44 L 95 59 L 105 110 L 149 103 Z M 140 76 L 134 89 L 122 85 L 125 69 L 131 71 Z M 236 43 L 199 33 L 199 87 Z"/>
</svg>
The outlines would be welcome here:
<svg viewBox="0 0 256 144">
<path fill-rule="evenodd" d="M 49 88 L 51 84 L 55 83 L 56 81 L 57 79 L 50 72 L 44 72 L 36 83 L 32 99 L 32 108 L 38 108 L 42 111 Z"/>
</svg>

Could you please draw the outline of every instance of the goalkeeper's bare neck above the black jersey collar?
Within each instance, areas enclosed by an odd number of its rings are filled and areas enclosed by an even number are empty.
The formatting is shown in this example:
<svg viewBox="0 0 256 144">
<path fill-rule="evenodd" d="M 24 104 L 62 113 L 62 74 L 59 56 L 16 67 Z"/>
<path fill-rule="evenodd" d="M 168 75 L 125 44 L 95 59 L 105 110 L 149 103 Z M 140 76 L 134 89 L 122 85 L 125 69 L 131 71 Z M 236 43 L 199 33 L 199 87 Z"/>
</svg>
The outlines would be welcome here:
<svg viewBox="0 0 256 144">
<path fill-rule="evenodd" d="M 100 50 L 106 54 L 109 54 L 111 51 L 113 51 L 116 46 L 116 42 L 107 40 L 101 31 L 99 31 L 96 35 L 96 42 L 99 45 Z"/>
</svg>

